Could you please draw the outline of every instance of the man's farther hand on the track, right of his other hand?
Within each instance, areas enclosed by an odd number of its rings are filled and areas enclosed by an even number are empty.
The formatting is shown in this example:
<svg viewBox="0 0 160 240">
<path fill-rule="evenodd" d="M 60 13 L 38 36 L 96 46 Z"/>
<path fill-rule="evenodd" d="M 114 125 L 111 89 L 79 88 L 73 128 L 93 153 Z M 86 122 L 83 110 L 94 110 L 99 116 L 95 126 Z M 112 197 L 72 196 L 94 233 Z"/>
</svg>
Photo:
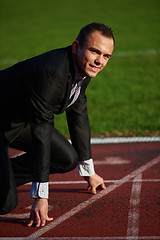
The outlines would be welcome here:
<svg viewBox="0 0 160 240">
<path fill-rule="evenodd" d="M 89 177 L 84 177 L 84 179 L 88 182 L 88 191 L 90 191 L 93 194 L 96 194 L 96 189 L 106 189 L 106 186 L 104 184 L 103 178 L 98 176 L 96 173 Z"/>
</svg>

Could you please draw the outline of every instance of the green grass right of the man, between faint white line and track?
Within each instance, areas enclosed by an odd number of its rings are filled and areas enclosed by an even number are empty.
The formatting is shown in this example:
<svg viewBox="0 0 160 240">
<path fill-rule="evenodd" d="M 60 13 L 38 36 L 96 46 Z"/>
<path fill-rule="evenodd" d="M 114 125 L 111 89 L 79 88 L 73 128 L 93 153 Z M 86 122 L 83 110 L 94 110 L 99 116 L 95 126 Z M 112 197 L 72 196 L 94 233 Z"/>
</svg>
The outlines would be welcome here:
<svg viewBox="0 0 160 240">
<path fill-rule="evenodd" d="M 97 82 L 102 81 L 104 91 L 96 81 L 91 85 L 89 109 L 92 119 L 95 119 L 91 122 L 92 130 L 99 130 L 104 135 L 156 134 L 160 124 L 157 57 L 121 58 L 118 65 L 118 57 L 112 60 L 108 73 L 106 69 L 106 73 L 97 79 Z M 96 93 L 100 99 L 94 99 Z"/>
</svg>

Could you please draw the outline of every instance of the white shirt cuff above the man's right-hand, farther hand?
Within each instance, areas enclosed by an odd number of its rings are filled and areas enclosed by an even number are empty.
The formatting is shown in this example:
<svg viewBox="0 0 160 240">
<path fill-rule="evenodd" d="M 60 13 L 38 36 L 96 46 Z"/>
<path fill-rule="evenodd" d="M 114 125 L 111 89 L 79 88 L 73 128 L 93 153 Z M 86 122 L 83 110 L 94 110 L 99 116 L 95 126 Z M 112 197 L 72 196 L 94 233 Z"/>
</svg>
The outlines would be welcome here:
<svg viewBox="0 0 160 240">
<path fill-rule="evenodd" d="M 79 176 L 92 176 L 95 174 L 93 159 L 80 161 L 78 163 L 78 174 Z"/>
</svg>

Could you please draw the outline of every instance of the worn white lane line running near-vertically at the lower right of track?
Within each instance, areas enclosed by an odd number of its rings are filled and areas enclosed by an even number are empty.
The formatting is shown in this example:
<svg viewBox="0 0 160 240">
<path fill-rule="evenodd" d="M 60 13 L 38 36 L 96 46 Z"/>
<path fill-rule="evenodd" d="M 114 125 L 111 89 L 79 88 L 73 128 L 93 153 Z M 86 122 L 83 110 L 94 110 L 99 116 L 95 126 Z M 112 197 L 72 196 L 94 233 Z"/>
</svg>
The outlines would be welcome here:
<svg viewBox="0 0 160 240">
<path fill-rule="evenodd" d="M 139 205 L 142 182 L 137 180 L 142 180 L 142 173 L 134 178 L 131 190 L 127 229 L 127 237 L 129 237 L 129 240 L 132 239 L 132 237 L 134 237 L 135 240 L 138 239 Z"/>
</svg>

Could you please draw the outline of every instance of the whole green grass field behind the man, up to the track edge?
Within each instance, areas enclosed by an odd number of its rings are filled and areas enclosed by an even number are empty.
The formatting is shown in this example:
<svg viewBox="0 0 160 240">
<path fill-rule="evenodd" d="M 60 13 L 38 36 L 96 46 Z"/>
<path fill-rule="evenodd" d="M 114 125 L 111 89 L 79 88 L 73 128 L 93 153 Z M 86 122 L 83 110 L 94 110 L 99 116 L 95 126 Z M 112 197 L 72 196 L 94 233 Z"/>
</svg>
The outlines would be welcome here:
<svg viewBox="0 0 160 240">
<path fill-rule="evenodd" d="M 92 136 L 159 135 L 159 9 L 159 0 L 1 0 L 0 69 L 67 46 L 85 24 L 104 22 L 116 47 L 87 89 Z M 64 114 L 55 125 L 68 135 Z"/>
</svg>

